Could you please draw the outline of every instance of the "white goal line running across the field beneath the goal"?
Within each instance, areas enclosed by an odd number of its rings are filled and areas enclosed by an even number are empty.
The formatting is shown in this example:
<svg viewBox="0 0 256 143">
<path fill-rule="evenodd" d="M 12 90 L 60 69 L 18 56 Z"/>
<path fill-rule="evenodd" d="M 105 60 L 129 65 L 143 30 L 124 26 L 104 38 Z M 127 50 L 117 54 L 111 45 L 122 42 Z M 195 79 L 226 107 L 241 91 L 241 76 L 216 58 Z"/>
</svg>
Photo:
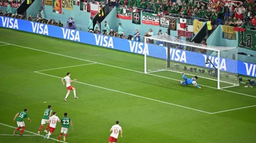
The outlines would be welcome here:
<svg viewBox="0 0 256 143">
<path fill-rule="evenodd" d="M 0 43 L 9 44 L 9 43 L 5 43 L 5 42 L 0 42 Z M 56 53 L 52 53 L 52 52 L 49 52 L 49 51 L 44 51 L 44 50 L 39 50 L 39 49 L 34 49 L 34 48 L 29 48 L 29 47 L 24 47 L 24 46 L 19 46 L 19 45 L 14 45 L 14 44 L 9 44 L 9 45 L 13 45 L 13 46 L 21 47 L 21 48 L 26 48 L 26 49 L 32 49 L 32 50 L 42 51 L 42 52 L 44 52 L 44 53 L 49 53 L 49 54 L 53 54 L 53 55 L 59 55 L 59 56 L 63 56 L 63 57 L 68 57 L 68 58 L 73 58 L 73 59 L 78 59 L 78 60 L 83 60 L 83 61 L 88 61 L 88 62 L 94 62 L 94 63 L 95 63 L 95 61 L 90 61 L 90 60 L 80 59 L 80 58 L 76 58 L 76 57 L 71 57 L 71 56 L 56 54 Z M 109 65 L 109 64 L 104 64 L 104 63 L 99 63 L 99 62 L 97 62 L 97 63 L 98 63 L 98 64 L 102 64 L 102 65 L 104 65 L 104 66 L 109 66 L 109 67 L 113 67 L 113 68 L 119 68 L 119 69 L 123 69 L 123 70 L 128 70 L 128 71 L 133 71 L 133 72 L 138 72 L 138 73 L 143 73 L 143 74 L 144 74 L 144 72 L 140 72 L 140 71 L 135 71 L 135 70 L 131 70 L 131 69 L 125 69 L 125 68 L 121 68 L 121 67 L 117 67 L 117 66 L 112 66 L 112 65 Z M 164 77 L 164 76 L 159 76 L 159 75 L 155 75 L 155 74 L 148 74 L 148 75 L 153 75 L 153 76 L 158 76 L 158 77 Z M 170 79 L 170 80 L 174 80 L 174 81 L 178 81 L 178 80 L 176 80 L 176 79 L 171 79 L 171 78 L 168 78 L 168 77 L 164 77 L 164 78 Z M 208 87 L 208 88 L 217 89 L 217 88 L 210 87 L 210 86 L 206 86 L 206 85 L 200 85 L 200 86 L 204 86 L 204 87 Z M 219 89 L 219 90 L 223 90 L 223 91 L 225 91 L 225 92 L 230 92 L 230 93 L 235 93 L 235 94 L 240 94 L 240 95 L 245 95 L 245 96 L 250 96 L 250 97 L 256 98 L 256 96 L 247 95 L 247 94 L 242 94 L 242 93 L 237 93 L 237 92 L 232 92 L 232 91 L 230 91 L 230 90 L 224 90 L 224 89 Z"/>
</svg>

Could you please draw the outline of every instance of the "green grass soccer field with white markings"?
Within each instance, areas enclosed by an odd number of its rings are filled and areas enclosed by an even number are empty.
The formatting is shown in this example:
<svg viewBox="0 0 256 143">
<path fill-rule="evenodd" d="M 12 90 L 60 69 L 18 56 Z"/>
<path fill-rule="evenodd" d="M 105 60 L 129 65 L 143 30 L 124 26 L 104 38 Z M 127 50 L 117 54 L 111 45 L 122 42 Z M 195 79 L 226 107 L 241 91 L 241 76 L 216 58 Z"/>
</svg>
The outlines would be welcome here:
<svg viewBox="0 0 256 143">
<path fill-rule="evenodd" d="M 56 142 L 59 123 L 50 140 L 35 135 L 48 105 L 73 121 L 68 143 L 108 142 L 117 120 L 120 143 L 256 142 L 255 87 L 218 90 L 202 78 L 202 89 L 182 86 L 181 73 L 143 73 L 141 55 L 3 28 L 0 53 L 1 142 Z M 71 92 L 65 102 L 67 72 L 78 80 L 72 86 L 79 99 Z M 13 118 L 25 108 L 32 121 L 24 120 L 27 136 L 11 136 Z"/>
</svg>

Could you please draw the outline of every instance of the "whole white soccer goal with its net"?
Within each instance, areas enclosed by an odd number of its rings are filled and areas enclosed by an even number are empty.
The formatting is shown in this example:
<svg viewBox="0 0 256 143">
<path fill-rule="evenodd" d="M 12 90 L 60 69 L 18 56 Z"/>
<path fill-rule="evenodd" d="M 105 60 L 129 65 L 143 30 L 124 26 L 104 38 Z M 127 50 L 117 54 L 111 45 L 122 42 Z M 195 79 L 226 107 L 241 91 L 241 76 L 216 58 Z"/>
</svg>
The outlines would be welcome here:
<svg viewBox="0 0 256 143">
<path fill-rule="evenodd" d="M 144 45 L 145 73 L 182 80 L 179 73 L 184 72 L 201 77 L 199 85 L 217 89 L 239 86 L 237 47 L 205 46 L 167 34 L 145 37 Z"/>
</svg>

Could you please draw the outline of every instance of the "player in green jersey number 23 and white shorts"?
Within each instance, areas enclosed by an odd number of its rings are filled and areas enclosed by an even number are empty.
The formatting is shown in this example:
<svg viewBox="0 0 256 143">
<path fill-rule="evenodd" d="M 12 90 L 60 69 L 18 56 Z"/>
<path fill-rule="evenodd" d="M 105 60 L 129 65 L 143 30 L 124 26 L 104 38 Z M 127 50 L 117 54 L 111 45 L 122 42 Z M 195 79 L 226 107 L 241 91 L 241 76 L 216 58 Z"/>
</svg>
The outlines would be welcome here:
<svg viewBox="0 0 256 143">
<path fill-rule="evenodd" d="M 61 136 L 63 133 L 64 133 L 63 140 L 64 141 L 66 140 L 67 131 L 68 131 L 70 124 L 71 124 L 71 129 L 73 130 L 73 123 L 72 123 L 71 119 L 67 117 L 67 113 L 64 113 L 64 117 L 61 119 L 61 124 L 62 124 L 61 134 L 59 135 L 59 138 L 57 141 L 59 141 L 61 139 Z"/>
</svg>

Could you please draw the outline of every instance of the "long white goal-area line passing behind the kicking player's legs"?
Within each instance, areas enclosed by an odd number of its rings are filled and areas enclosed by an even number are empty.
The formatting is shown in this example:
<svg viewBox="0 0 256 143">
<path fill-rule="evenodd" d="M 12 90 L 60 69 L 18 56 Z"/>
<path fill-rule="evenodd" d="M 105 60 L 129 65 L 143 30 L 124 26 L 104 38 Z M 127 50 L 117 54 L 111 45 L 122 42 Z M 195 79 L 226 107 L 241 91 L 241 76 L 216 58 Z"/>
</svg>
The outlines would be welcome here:
<svg viewBox="0 0 256 143">
<path fill-rule="evenodd" d="M 48 75 L 48 76 L 52 76 L 52 77 L 56 77 L 56 78 L 62 79 L 62 77 L 58 77 L 58 76 L 54 76 L 54 75 L 50 75 L 50 74 L 45 74 L 45 73 L 40 73 L 40 72 L 35 72 L 35 73 L 39 73 L 39 74 Z M 125 92 L 120 92 L 120 91 L 118 91 L 118 90 L 109 89 L 109 88 L 104 88 L 104 87 L 100 87 L 100 86 L 96 86 L 96 85 L 92 85 L 92 84 L 87 84 L 87 83 L 82 83 L 82 82 L 78 82 L 78 81 L 76 81 L 76 82 L 77 82 L 77 83 L 80 83 L 80 84 L 92 86 L 92 87 L 97 87 L 97 88 L 101 88 L 101 89 L 110 90 L 110 91 L 112 91 L 112 92 L 122 93 L 122 94 L 126 94 L 126 95 L 131 95 L 131 96 L 134 96 L 134 97 L 144 98 L 144 99 L 148 99 L 148 100 L 152 100 L 152 101 L 157 101 L 157 102 L 161 102 L 161 103 L 166 103 L 166 104 L 168 104 L 168 105 L 178 106 L 178 107 L 187 108 L 187 109 L 190 109 L 190 110 L 195 110 L 195 111 L 199 111 L 199 112 L 211 114 L 210 112 L 206 112 L 206 111 L 202 111 L 202 110 L 197 110 L 197 109 L 193 109 L 193 108 L 189 108 L 189 107 L 185 107 L 185 106 L 180 106 L 180 105 L 176 105 L 176 104 L 169 103 L 169 102 L 165 102 L 165 101 L 160 101 L 160 100 L 156 100 L 156 99 L 152 99 L 152 98 L 147 98 L 147 97 L 143 97 L 143 96 L 138 96 L 138 95 L 134 95 L 134 94 L 129 94 L 129 93 L 125 93 Z"/>
</svg>

